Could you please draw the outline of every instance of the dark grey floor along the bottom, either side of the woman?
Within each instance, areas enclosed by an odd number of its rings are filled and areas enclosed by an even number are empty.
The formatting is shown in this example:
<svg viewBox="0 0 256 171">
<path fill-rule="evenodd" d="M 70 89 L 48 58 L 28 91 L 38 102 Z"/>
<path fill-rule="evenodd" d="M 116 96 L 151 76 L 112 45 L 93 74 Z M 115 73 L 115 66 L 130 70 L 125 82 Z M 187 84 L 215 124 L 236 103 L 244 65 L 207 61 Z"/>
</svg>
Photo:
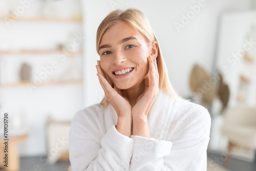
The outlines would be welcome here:
<svg viewBox="0 0 256 171">
<path fill-rule="evenodd" d="M 211 161 L 215 161 L 218 164 L 222 164 L 218 159 L 220 158 L 219 154 L 208 153 L 208 159 Z M 41 157 L 22 157 L 20 158 L 20 171 L 34 171 L 34 170 L 41 170 L 41 171 L 66 171 L 70 165 L 69 161 L 65 162 L 57 162 L 54 165 L 46 164 L 44 158 Z M 210 163 L 214 169 L 211 170 L 225 170 L 221 169 L 221 166 L 218 167 L 213 163 Z M 1 170 L 1 169 L 0 169 Z M 237 159 L 231 159 L 230 165 L 228 170 L 230 171 L 255 171 L 256 170 L 256 162 L 249 163 Z"/>
</svg>

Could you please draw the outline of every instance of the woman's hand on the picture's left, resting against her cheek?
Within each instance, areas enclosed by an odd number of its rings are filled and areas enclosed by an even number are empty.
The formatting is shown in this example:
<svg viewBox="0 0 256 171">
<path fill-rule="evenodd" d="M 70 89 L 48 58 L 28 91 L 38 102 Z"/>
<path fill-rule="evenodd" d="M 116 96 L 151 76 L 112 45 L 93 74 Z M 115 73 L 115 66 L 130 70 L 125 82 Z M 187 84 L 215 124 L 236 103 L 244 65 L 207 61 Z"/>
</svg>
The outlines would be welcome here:
<svg viewBox="0 0 256 171">
<path fill-rule="evenodd" d="M 118 118 L 132 118 L 132 106 L 129 100 L 126 97 L 123 97 L 122 91 L 116 86 L 114 87 L 114 89 L 111 87 L 110 83 L 106 79 L 103 70 L 101 69 L 100 61 L 97 60 L 97 63 L 98 65 L 96 65 L 96 69 L 100 85 L 104 90 L 105 97 L 109 100 L 109 102 L 115 109 Z"/>
</svg>

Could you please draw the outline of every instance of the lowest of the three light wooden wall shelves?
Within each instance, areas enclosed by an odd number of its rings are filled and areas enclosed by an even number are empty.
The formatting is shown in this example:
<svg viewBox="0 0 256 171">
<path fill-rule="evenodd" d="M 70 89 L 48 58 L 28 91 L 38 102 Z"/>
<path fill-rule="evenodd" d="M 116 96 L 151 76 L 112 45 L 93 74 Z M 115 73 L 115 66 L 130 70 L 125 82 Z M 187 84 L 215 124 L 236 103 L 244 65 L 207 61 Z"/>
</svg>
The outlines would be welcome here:
<svg viewBox="0 0 256 171">
<path fill-rule="evenodd" d="M 33 84 L 33 82 L 4 83 L 4 84 L 0 84 L 0 88 L 27 87 L 28 83 Z M 82 80 L 71 80 L 71 81 L 58 81 L 58 82 L 43 82 L 38 87 L 41 87 L 41 86 L 68 86 L 68 85 L 82 86 L 82 84 L 83 84 Z"/>
</svg>

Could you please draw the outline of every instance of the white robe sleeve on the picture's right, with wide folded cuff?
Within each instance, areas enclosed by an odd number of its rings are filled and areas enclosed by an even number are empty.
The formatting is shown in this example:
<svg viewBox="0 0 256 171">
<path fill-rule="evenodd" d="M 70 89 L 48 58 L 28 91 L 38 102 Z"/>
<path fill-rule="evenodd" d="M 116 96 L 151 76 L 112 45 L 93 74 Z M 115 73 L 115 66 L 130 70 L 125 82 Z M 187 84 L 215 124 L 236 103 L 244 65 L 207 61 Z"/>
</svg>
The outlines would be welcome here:
<svg viewBox="0 0 256 171">
<path fill-rule="evenodd" d="M 172 141 L 132 135 L 130 170 L 206 170 L 210 115 L 203 106 L 190 109 L 178 119 Z M 172 129 L 172 127 L 171 127 Z"/>
</svg>

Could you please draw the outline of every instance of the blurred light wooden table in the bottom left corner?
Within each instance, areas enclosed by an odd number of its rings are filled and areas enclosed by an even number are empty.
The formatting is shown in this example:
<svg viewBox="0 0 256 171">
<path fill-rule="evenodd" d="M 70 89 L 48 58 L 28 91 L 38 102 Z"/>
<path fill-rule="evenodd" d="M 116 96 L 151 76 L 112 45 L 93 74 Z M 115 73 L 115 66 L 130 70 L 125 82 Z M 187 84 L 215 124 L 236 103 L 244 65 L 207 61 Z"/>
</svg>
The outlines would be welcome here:
<svg viewBox="0 0 256 171">
<path fill-rule="evenodd" d="M 3 160 L 0 162 L 0 167 L 3 167 L 6 171 L 18 171 L 19 170 L 19 154 L 18 154 L 18 143 L 27 139 L 28 135 L 20 135 L 9 138 L 8 141 L 8 167 L 5 167 Z M 4 140 L 0 141 L 0 158 L 3 159 L 5 154 Z"/>
</svg>

